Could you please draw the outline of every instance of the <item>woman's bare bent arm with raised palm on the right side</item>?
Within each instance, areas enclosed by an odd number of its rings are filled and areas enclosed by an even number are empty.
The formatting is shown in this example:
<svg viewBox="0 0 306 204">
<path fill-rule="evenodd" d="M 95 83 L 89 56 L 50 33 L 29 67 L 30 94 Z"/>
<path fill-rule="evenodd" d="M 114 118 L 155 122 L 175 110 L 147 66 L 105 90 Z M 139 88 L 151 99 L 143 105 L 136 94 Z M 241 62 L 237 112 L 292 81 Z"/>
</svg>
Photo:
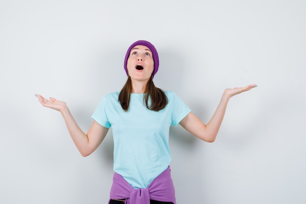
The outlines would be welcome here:
<svg viewBox="0 0 306 204">
<path fill-rule="evenodd" d="M 214 142 L 219 132 L 229 99 L 234 95 L 249 91 L 255 87 L 257 86 L 254 84 L 241 88 L 226 89 L 214 115 L 206 125 L 194 113 L 186 115 L 179 124 L 198 138 L 207 142 Z"/>
</svg>

